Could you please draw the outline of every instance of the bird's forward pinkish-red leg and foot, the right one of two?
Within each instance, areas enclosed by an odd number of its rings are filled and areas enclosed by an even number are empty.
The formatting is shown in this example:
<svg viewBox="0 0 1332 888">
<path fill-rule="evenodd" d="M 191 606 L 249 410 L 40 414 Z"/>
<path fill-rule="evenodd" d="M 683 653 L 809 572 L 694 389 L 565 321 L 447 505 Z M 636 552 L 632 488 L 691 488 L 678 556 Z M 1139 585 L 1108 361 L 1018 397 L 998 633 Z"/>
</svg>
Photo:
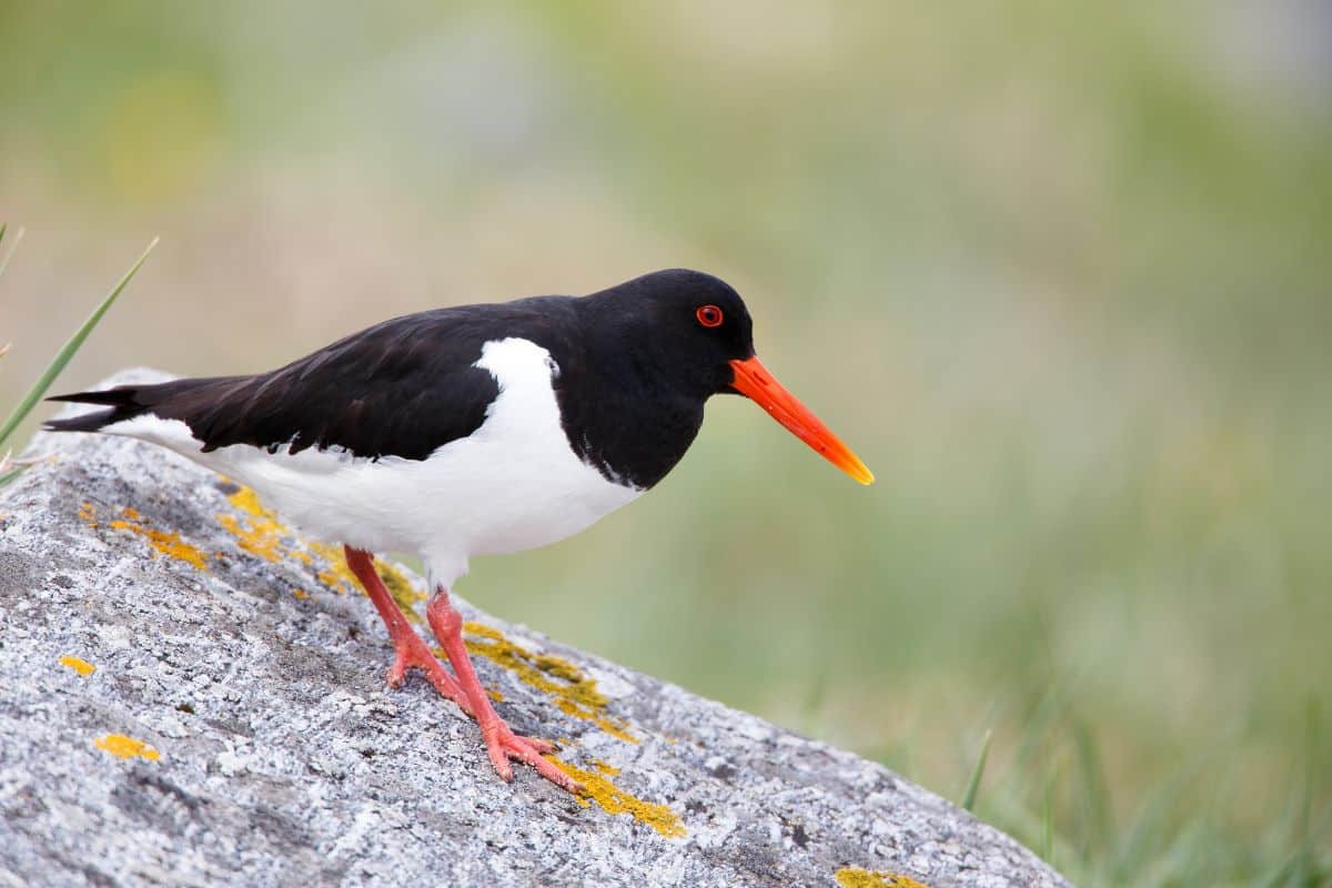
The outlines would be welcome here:
<svg viewBox="0 0 1332 888">
<path fill-rule="evenodd" d="M 575 780 L 541 758 L 542 752 L 550 752 L 554 748 L 551 744 L 545 740 L 518 736 L 490 706 L 490 698 L 481 687 L 477 671 L 472 667 L 472 658 L 462 643 L 462 614 L 449 603 L 449 592 L 438 590 L 430 598 L 425 612 L 430 620 L 430 628 L 434 630 L 434 636 L 440 639 L 444 652 L 449 655 L 453 671 L 458 675 L 458 684 L 462 686 L 468 702 L 472 703 L 472 712 L 477 724 L 481 726 L 481 736 L 486 742 L 486 752 L 490 755 L 490 764 L 494 766 L 496 772 L 505 780 L 511 780 L 513 767 L 510 767 L 509 759 L 518 759 L 530 764 L 537 770 L 537 774 L 557 787 L 578 792 L 581 787 Z"/>
</svg>

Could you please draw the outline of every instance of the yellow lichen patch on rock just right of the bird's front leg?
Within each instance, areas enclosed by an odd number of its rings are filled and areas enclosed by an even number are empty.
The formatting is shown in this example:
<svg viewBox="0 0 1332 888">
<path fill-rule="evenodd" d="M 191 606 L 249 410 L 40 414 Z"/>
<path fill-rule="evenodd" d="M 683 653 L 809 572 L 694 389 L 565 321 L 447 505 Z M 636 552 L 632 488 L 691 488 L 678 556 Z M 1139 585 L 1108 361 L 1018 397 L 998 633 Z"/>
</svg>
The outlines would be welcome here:
<svg viewBox="0 0 1332 888">
<path fill-rule="evenodd" d="M 550 694 L 555 698 L 555 706 L 567 715 L 591 722 L 606 734 L 627 743 L 638 743 L 638 738 L 629 732 L 627 722 L 606 715 L 606 704 L 610 700 L 597 690 L 595 679 L 585 675 L 569 660 L 550 654 L 533 654 L 510 642 L 500 630 L 484 623 L 466 623 L 462 628 L 473 636 L 466 639 L 468 651 L 473 656 L 484 656 L 505 667 L 523 683 Z"/>
</svg>

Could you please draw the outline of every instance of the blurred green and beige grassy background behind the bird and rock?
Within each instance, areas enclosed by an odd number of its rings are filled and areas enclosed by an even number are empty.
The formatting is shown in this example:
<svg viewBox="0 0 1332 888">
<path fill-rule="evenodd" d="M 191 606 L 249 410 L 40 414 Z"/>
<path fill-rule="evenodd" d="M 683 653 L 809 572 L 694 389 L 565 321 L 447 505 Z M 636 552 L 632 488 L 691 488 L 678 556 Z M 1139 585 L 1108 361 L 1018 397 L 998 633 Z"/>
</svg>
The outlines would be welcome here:
<svg viewBox="0 0 1332 888">
<path fill-rule="evenodd" d="M 864 490 L 718 399 L 465 596 L 960 797 L 1084 885 L 1332 884 L 1332 9 L 0 4 L 12 403 L 727 278 Z M 29 426 L 33 426 L 31 422 Z"/>
</svg>

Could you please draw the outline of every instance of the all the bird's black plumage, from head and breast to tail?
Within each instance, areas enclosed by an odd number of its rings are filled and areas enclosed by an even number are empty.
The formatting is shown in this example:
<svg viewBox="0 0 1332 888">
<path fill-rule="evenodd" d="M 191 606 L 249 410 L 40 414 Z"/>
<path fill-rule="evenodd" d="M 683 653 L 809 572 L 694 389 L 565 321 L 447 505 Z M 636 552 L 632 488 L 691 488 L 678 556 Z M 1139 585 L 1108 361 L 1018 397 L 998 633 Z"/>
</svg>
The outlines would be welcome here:
<svg viewBox="0 0 1332 888">
<path fill-rule="evenodd" d="M 702 329 L 698 305 L 726 322 Z M 589 297 L 546 296 L 436 309 L 385 321 L 278 370 L 60 395 L 112 409 L 47 423 L 92 431 L 152 413 L 185 422 L 204 450 L 252 445 L 300 453 L 425 459 L 476 431 L 500 393 L 474 363 L 486 342 L 521 337 L 550 351 L 573 451 L 607 479 L 651 487 L 683 457 L 727 361 L 753 354 L 735 292 L 699 272 L 647 274 Z"/>
</svg>

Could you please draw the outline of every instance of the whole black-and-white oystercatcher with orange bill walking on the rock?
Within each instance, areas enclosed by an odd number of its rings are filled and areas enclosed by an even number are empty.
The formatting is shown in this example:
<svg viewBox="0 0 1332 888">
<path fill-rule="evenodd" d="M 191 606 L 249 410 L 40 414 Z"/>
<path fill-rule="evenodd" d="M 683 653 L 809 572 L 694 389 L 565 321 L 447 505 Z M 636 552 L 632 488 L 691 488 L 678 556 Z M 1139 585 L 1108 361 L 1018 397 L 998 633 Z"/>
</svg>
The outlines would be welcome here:
<svg viewBox="0 0 1332 888">
<path fill-rule="evenodd" d="M 490 704 L 449 588 L 472 555 L 570 537 L 659 482 L 714 394 L 753 398 L 860 483 L 874 475 L 754 355 L 749 310 L 723 281 L 655 272 L 585 297 L 542 296 L 385 321 L 257 375 L 176 379 L 51 398 L 104 405 L 45 425 L 149 441 L 241 481 L 346 560 L 388 627 L 389 684 L 420 668 L 509 759 L 566 788 Z M 373 567 L 421 556 L 426 616 L 450 674 Z"/>
</svg>

